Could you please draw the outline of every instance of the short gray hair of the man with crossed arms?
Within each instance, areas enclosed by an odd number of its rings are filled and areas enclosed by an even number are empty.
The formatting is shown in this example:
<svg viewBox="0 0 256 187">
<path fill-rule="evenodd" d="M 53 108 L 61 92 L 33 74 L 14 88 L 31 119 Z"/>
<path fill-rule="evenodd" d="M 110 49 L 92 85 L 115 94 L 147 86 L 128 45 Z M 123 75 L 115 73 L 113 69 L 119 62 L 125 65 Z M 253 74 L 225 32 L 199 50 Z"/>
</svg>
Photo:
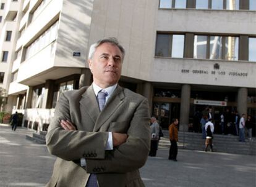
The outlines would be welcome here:
<svg viewBox="0 0 256 187">
<path fill-rule="evenodd" d="M 109 38 L 103 38 L 103 39 L 100 39 L 98 42 L 96 42 L 95 44 L 92 44 L 92 46 L 90 47 L 90 50 L 89 50 L 89 54 L 88 54 L 88 59 L 92 59 L 94 53 L 95 53 L 95 50 L 97 47 L 99 47 L 101 44 L 104 44 L 104 43 L 110 43 L 114 46 L 117 46 L 121 52 L 122 52 L 122 59 L 124 59 L 124 55 L 126 54 L 125 50 L 124 50 L 124 47 L 122 47 L 118 40 L 114 37 L 109 37 Z"/>
</svg>

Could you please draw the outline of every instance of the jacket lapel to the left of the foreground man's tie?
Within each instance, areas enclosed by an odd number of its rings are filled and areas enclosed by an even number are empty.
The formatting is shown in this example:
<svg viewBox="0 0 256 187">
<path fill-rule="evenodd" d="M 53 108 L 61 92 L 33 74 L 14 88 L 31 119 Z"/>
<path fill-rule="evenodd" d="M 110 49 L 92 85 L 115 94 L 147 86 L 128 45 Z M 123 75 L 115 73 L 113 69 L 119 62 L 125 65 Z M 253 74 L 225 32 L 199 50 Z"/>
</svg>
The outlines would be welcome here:
<svg viewBox="0 0 256 187">
<path fill-rule="evenodd" d="M 85 93 L 82 94 L 80 106 L 81 111 L 87 112 L 95 123 L 100 114 L 100 109 L 92 86 L 88 87 Z"/>
</svg>

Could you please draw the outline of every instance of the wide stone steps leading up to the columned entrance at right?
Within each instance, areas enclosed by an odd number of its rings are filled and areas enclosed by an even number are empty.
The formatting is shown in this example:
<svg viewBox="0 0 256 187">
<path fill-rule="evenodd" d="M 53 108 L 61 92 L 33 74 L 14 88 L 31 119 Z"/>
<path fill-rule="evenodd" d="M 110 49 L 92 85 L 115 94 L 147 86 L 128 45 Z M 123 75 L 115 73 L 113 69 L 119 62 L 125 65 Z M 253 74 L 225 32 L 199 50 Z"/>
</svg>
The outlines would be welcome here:
<svg viewBox="0 0 256 187">
<path fill-rule="evenodd" d="M 160 147 L 169 148 L 169 132 L 163 130 L 164 137 L 159 142 Z M 234 154 L 256 155 L 256 140 L 239 142 L 239 137 L 234 135 L 217 135 L 213 134 L 213 151 Z M 193 149 L 203 151 L 205 140 L 202 139 L 202 133 L 180 132 L 179 131 L 179 148 Z M 209 148 L 210 149 L 210 148 Z"/>
</svg>

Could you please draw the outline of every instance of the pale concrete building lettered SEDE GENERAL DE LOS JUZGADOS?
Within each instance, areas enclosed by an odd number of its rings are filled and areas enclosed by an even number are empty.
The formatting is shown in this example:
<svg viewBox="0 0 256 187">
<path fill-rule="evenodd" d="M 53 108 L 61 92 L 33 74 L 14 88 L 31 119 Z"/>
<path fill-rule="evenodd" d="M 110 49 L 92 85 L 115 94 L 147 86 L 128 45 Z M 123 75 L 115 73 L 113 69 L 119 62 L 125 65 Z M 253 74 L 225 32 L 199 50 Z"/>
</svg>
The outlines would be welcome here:
<svg viewBox="0 0 256 187">
<path fill-rule="evenodd" d="M 59 94 L 92 82 L 88 48 L 106 36 L 126 49 L 119 84 L 147 97 L 163 127 L 177 117 L 188 130 L 206 107 L 216 123 L 226 109 L 256 114 L 255 1 L 18 4 L 8 107 L 24 113 L 25 127 L 47 129 Z"/>
</svg>

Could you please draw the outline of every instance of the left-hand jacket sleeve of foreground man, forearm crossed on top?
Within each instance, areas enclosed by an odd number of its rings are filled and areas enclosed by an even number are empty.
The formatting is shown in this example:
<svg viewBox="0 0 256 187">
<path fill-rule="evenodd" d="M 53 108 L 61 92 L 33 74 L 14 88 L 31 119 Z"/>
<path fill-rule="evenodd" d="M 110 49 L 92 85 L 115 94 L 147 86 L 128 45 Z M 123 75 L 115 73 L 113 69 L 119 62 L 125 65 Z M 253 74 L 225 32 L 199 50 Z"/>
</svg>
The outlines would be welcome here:
<svg viewBox="0 0 256 187">
<path fill-rule="evenodd" d="M 67 161 L 82 157 L 104 159 L 108 132 L 64 130 L 60 122 L 62 119 L 70 121 L 69 110 L 69 100 L 64 94 L 61 94 L 46 134 L 46 145 L 49 153 Z"/>
</svg>

